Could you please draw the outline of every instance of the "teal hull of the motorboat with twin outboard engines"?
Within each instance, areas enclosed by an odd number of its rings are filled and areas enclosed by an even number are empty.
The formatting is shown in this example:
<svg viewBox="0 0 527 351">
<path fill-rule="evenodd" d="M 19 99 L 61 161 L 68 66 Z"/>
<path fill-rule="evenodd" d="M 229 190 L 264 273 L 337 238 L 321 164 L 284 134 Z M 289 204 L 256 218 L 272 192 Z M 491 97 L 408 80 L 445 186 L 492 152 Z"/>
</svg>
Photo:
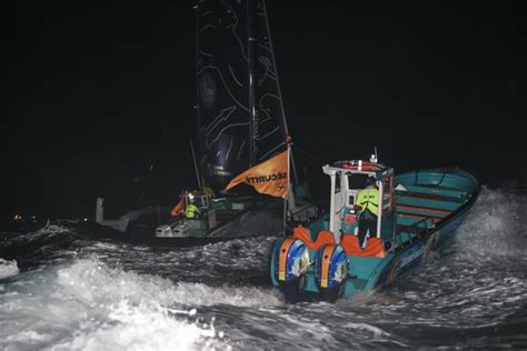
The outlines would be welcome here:
<svg viewBox="0 0 527 351">
<path fill-rule="evenodd" d="M 427 261 L 456 232 L 476 202 L 480 185 L 470 173 L 454 169 L 420 170 L 395 177 L 395 211 L 392 230 L 384 230 L 380 239 L 386 247 L 384 257 L 347 254 L 347 277 L 335 291 L 338 297 L 352 297 L 389 284 Z M 329 230 L 329 217 L 309 225 L 314 233 Z M 285 240 L 275 242 L 270 277 L 274 285 L 284 282 L 278 277 L 279 254 Z M 339 244 L 337 244 L 338 247 Z M 317 252 L 306 248 L 310 265 L 300 287 L 302 295 L 324 295 L 317 271 Z M 335 297 L 330 300 L 335 300 Z"/>
</svg>

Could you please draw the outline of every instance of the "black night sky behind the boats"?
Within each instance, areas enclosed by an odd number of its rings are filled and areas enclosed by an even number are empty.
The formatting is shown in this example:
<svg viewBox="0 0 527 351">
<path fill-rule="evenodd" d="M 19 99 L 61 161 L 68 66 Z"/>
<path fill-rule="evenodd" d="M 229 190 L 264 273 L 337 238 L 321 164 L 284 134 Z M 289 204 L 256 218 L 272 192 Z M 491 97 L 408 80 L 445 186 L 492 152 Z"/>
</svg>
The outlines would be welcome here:
<svg viewBox="0 0 527 351">
<path fill-rule="evenodd" d="M 524 1 L 268 0 L 297 159 L 527 179 Z M 0 215 L 117 215 L 196 187 L 191 1 L 2 2 Z M 168 129 L 163 133 L 165 127 Z M 162 137 L 165 136 L 165 137 Z"/>
</svg>

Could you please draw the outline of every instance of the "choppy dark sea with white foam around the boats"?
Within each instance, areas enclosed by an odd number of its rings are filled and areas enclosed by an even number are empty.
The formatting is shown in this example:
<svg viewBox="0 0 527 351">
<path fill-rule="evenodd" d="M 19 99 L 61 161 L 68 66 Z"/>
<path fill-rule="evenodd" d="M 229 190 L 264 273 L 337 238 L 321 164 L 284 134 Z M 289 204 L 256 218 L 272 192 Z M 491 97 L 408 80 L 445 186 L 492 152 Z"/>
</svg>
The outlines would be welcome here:
<svg viewBox="0 0 527 351">
<path fill-rule="evenodd" d="M 527 197 L 483 190 L 454 239 L 396 283 L 285 303 L 275 238 L 163 248 L 54 221 L 0 233 L 4 350 L 527 349 Z"/>
</svg>

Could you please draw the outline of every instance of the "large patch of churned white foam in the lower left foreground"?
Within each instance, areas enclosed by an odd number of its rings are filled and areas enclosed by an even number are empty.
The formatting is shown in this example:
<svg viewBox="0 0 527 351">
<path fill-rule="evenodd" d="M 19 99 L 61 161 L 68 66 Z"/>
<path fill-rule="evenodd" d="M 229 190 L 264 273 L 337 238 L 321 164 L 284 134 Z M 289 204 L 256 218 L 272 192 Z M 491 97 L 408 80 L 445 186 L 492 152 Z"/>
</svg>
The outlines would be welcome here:
<svg viewBox="0 0 527 351">
<path fill-rule="evenodd" d="M 203 324 L 200 305 L 282 303 L 257 288 L 173 284 L 97 259 L 26 272 L 0 293 L 0 349 L 225 349 L 228 331 L 216 331 L 210 317 Z"/>
</svg>

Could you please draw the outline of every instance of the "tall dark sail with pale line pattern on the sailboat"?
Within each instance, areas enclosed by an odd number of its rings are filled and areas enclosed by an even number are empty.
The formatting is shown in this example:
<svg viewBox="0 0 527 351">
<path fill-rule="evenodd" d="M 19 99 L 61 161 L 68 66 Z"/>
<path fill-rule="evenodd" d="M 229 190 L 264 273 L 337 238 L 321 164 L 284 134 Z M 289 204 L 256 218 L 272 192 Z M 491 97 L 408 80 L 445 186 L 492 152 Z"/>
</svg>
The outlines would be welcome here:
<svg viewBox="0 0 527 351">
<path fill-rule="evenodd" d="M 265 2 L 202 0 L 197 16 L 200 168 L 223 189 L 285 150 L 287 126 Z"/>
</svg>

